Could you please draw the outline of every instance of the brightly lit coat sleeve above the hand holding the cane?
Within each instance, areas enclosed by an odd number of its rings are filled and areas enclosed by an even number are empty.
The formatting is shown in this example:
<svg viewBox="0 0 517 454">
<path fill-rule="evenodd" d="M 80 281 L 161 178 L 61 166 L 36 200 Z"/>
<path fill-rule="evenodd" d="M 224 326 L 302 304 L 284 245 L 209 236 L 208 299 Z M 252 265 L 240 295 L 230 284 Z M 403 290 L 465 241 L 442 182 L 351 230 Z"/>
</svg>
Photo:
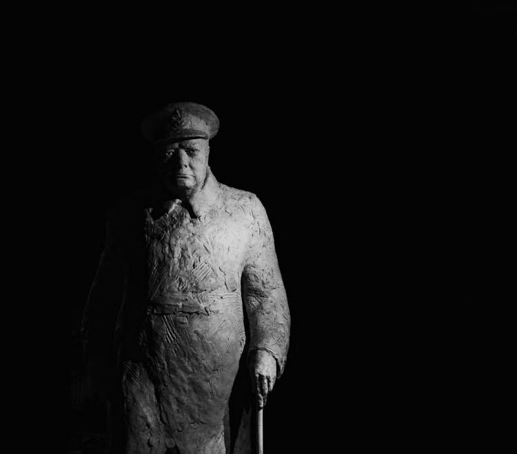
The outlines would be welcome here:
<svg viewBox="0 0 517 454">
<path fill-rule="evenodd" d="M 242 279 L 243 301 L 250 323 L 249 353 L 257 349 L 269 352 L 276 360 L 279 378 L 289 349 L 291 318 L 270 221 L 256 196 L 252 197 L 252 218 Z"/>
</svg>

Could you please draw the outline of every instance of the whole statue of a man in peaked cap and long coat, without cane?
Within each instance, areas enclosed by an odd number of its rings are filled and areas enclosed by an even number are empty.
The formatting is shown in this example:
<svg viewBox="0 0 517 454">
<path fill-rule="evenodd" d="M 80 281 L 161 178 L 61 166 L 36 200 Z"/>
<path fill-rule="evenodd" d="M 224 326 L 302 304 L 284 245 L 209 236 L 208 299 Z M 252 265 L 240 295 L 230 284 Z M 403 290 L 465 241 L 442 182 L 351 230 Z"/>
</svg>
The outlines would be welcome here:
<svg viewBox="0 0 517 454">
<path fill-rule="evenodd" d="M 250 452 L 249 408 L 231 428 L 229 416 L 246 341 L 259 407 L 284 369 L 290 313 L 272 229 L 259 198 L 210 171 L 218 129 L 196 103 L 146 117 L 159 178 L 108 214 L 82 333 L 109 391 L 112 452 Z"/>
</svg>

